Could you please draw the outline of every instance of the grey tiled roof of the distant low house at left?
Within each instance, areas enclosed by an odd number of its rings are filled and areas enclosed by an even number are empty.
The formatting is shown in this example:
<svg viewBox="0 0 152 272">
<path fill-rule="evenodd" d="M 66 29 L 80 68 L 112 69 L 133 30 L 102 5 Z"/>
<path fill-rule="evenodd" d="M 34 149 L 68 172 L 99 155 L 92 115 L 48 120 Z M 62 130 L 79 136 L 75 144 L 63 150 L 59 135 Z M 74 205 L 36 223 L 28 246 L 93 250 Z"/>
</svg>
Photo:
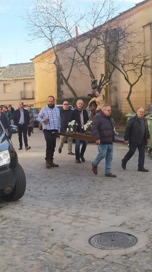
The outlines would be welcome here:
<svg viewBox="0 0 152 272">
<path fill-rule="evenodd" d="M 17 78 L 17 77 L 33 77 L 34 64 L 33 62 L 9 64 L 0 72 L 2 78 Z"/>
</svg>

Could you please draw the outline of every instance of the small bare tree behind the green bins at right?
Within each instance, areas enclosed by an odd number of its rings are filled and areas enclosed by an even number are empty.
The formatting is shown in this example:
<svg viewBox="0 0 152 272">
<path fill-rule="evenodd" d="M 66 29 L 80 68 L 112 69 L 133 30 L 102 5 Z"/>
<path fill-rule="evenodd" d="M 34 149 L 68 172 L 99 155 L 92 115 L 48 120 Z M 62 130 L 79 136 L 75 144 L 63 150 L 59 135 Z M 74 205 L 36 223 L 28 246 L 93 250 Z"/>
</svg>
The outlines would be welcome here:
<svg viewBox="0 0 152 272">
<path fill-rule="evenodd" d="M 149 56 L 144 54 L 144 44 L 140 41 L 141 31 L 136 30 L 134 23 L 128 24 L 123 20 L 121 24 L 118 23 L 117 26 L 116 24 L 107 31 L 108 35 L 105 33 L 105 61 L 109 74 L 113 69 L 117 69 L 129 84 L 126 100 L 131 110 L 135 112 L 130 95 L 140 78 L 144 80 L 143 73 L 150 74 Z"/>
</svg>

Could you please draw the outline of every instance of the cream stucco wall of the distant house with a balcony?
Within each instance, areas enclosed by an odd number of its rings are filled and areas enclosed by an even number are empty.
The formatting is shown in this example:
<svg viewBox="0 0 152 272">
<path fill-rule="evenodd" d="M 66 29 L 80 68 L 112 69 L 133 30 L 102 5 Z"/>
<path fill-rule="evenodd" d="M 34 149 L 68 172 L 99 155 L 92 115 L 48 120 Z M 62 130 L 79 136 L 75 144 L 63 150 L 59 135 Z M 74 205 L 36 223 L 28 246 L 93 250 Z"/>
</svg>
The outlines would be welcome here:
<svg viewBox="0 0 152 272">
<path fill-rule="evenodd" d="M 34 78 L 16 79 L 16 80 L 0 80 L 0 105 L 12 105 L 15 109 L 18 108 L 18 103 L 22 101 L 24 105 L 34 104 L 35 99 L 20 99 L 20 91 L 24 91 L 24 82 L 31 82 L 31 91 L 35 90 Z M 4 85 L 10 84 L 9 93 L 4 93 Z M 34 93 L 35 97 L 35 93 Z"/>
</svg>

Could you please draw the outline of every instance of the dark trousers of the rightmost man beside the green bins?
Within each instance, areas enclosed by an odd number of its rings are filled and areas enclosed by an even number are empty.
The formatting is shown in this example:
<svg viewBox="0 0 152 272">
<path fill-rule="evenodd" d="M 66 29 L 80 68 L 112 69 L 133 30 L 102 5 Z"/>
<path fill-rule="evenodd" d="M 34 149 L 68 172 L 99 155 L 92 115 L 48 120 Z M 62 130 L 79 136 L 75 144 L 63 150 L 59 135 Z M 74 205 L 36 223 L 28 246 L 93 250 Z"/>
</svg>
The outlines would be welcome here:
<svg viewBox="0 0 152 272">
<path fill-rule="evenodd" d="M 130 144 L 129 151 L 125 155 L 123 161 L 127 163 L 132 156 L 135 154 L 136 149 L 138 148 L 139 157 L 138 157 L 138 168 L 142 168 L 145 162 L 145 140 L 141 142 L 140 145 Z"/>
</svg>

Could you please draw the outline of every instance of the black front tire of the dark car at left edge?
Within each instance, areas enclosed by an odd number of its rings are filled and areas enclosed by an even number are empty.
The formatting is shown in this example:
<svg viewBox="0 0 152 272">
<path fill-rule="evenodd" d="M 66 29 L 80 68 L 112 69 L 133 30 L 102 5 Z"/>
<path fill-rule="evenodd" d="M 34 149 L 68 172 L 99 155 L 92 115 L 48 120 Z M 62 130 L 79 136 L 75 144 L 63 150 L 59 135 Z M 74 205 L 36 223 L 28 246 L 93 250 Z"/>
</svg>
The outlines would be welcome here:
<svg viewBox="0 0 152 272">
<path fill-rule="evenodd" d="M 16 201 L 22 198 L 22 196 L 24 196 L 25 190 L 26 190 L 25 173 L 22 166 L 18 164 L 18 173 L 15 187 L 10 194 L 1 196 L 1 198 L 5 201 Z"/>
</svg>

